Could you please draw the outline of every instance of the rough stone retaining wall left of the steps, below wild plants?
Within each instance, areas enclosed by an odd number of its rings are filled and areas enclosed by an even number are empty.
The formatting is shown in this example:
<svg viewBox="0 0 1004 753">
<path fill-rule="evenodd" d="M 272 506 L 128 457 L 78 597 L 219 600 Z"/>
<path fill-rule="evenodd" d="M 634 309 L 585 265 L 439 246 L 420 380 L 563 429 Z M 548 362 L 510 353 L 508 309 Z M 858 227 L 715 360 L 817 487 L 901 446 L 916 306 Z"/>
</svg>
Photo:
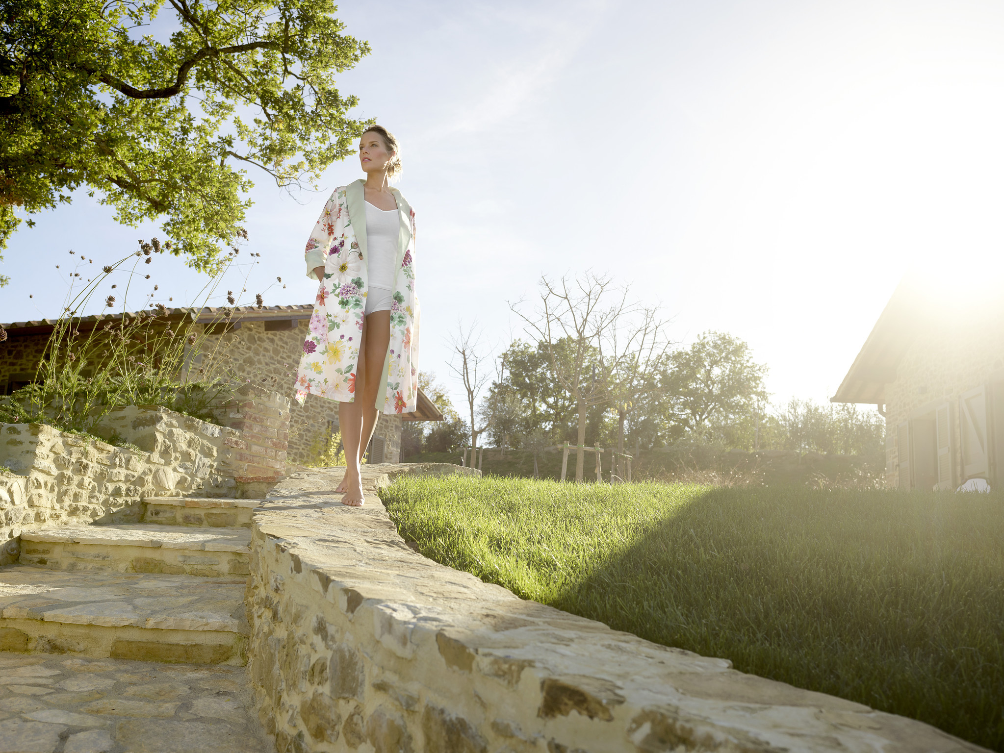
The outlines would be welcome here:
<svg viewBox="0 0 1004 753">
<path fill-rule="evenodd" d="M 138 521 L 146 497 L 264 496 L 285 470 L 283 432 L 272 427 L 284 426 L 288 402 L 257 388 L 242 393 L 229 409 L 242 430 L 157 406 L 112 410 L 95 433 L 135 450 L 41 424 L 0 424 L 0 466 L 11 471 L 0 473 L 0 547 L 43 526 Z M 273 438 L 261 446 L 265 429 Z M 0 564 L 3 557 L 0 550 Z"/>
</svg>

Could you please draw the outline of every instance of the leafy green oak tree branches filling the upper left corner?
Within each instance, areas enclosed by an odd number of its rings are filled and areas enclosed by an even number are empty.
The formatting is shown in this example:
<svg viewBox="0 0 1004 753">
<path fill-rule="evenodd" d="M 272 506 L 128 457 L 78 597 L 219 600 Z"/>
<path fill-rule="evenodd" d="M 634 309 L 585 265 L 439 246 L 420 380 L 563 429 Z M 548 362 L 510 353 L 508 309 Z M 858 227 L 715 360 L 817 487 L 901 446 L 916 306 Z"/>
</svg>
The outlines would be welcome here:
<svg viewBox="0 0 1004 753">
<path fill-rule="evenodd" d="M 83 188 L 126 225 L 163 218 L 172 253 L 214 269 L 250 205 L 246 168 L 310 183 L 367 124 L 346 115 L 356 98 L 334 75 L 369 48 L 334 11 L 0 0 L 0 249 L 22 215 Z"/>
</svg>

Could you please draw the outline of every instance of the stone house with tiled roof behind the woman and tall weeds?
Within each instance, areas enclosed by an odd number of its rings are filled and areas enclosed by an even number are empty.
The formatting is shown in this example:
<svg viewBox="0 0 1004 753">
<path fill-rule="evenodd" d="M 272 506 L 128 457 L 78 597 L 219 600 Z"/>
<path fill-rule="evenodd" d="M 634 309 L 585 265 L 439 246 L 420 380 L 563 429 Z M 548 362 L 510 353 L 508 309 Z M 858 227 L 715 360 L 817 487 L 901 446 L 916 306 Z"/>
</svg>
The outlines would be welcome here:
<svg viewBox="0 0 1004 753">
<path fill-rule="evenodd" d="M 221 308 L 168 310 L 168 321 L 194 319 L 207 335 L 202 350 L 222 354 L 234 373 L 253 385 L 293 398 L 293 378 L 313 311 L 312 305 L 237 306 L 226 322 L 222 320 L 224 309 Z M 126 316 L 135 317 L 137 313 L 127 313 Z M 86 333 L 90 327 L 120 318 L 121 314 L 84 316 L 77 328 Z M 38 359 L 54 324 L 52 319 L 3 324 L 7 340 L 0 343 L 0 395 L 10 395 L 34 380 Z M 187 365 L 197 368 L 203 363 L 203 353 L 193 353 Z M 405 421 L 444 420 L 443 414 L 421 390 L 418 407 L 419 410 L 413 414 L 381 414 L 367 450 L 369 462 L 400 462 Z M 288 460 L 292 463 L 308 462 L 337 430 L 336 403 L 312 395 L 307 397 L 302 407 L 291 400 Z"/>
</svg>

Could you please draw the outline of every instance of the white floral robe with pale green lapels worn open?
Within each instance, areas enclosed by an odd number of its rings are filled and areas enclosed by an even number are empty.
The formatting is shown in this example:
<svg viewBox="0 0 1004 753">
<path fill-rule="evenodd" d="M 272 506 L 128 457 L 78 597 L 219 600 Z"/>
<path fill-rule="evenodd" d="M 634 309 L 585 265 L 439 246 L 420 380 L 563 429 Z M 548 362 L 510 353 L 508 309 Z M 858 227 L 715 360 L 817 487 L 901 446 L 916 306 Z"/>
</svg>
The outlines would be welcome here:
<svg viewBox="0 0 1004 753">
<path fill-rule="evenodd" d="M 359 334 L 368 291 L 363 182 L 334 190 L 310 234 L 307 276 L 323 265 L 310 331 L 296 373 L 296 400 L 307 394 L 342 403 L 355 401 Z M 375 407 L 384 413 L 413 413 L 419 394 L 419 299 L 415 294 L 415 212 L 397 189 L 401 234 L 391 303 L 391 341 L 384 358 L 387 375 Z M 356 220 L 353 223 L 353 218 Z"/>
</svg>

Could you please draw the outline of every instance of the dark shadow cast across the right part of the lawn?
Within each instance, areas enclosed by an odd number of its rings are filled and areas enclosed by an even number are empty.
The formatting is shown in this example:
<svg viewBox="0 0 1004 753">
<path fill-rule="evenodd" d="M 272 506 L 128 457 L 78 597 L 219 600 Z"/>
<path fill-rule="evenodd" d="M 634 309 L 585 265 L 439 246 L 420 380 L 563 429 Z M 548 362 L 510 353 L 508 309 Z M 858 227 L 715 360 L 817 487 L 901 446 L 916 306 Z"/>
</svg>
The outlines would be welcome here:
<svg viewBox="0 0 1004 753">
<path fill-rule="evenodd" d="M 1002 544 L 999 495 L 713 489 L 549 603 L 1001 751 Z"/>
</svg>

